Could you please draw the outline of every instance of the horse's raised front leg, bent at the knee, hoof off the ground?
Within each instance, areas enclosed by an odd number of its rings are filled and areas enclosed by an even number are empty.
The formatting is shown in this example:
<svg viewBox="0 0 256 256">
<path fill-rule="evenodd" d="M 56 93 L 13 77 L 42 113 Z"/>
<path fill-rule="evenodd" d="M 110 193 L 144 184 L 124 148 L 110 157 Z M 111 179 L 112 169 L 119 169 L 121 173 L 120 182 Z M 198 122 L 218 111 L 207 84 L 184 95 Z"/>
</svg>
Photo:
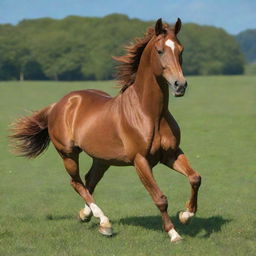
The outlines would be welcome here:
<svg viewBox="0 0 256 256">
<path fill-rule="evenodd" d="M 188 223 L 197 211 L 197 196 L 201 185 L 201 176 L 190 166 L 181 149 L 178 149 L 175 153 L 173 153 L 173 151 L 166 151 L 161 162 L 173 170 L 187 176 L 189 179 L 191 196 L 186 203 L 186 211 L 179 213 L 180 222 L 183 224 Z"/>
</svg>

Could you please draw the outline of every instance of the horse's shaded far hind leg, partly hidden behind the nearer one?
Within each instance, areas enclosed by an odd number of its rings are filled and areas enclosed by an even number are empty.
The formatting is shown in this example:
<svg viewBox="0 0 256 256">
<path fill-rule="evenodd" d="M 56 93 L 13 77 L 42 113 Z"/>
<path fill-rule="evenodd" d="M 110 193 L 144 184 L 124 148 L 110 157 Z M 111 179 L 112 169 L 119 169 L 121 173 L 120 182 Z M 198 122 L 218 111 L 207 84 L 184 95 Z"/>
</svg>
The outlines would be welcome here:
<svg viewBox="0 0 256 256">
<path fill-rule="evenodd" d="M 94 189 L 98 182 L 103 177 L 105 171 L 109 168 L 109 165 L 106 165 L 104 163 L 101 163 L 100 161 L 94 159 L 93 164 L 88 171 L 88 173 L 85 175 L 85 187 L 86 189 L 92 193 L 94 192 Z M 80 210 L 79 217 L 81 221 L 88 222 L 90 221 L 92 216 L 92 211 L 90 207 L 88 207 L 87 204 L 85 204 L 85 207 Z"/>
</svg>

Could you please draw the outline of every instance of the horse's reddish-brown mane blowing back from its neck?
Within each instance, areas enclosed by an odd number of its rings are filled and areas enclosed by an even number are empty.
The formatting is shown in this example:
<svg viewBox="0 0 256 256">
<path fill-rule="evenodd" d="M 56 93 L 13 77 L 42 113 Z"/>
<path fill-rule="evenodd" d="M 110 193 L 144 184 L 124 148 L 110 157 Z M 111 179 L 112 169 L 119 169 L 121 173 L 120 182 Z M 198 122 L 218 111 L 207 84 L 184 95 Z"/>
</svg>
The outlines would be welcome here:
<svg viewBox="0 0 256 256">
<path fill-rule="evenodd" d="M 113 57 L 119 62 L 116 78 L 120 84 L 121 93 L 134 83 L 143 50 L 154 35 L 154 28 L 148 28 L 144 37 L 135 38 L 134 43 L 125 47 L 126 55 Z"/>
</svg>

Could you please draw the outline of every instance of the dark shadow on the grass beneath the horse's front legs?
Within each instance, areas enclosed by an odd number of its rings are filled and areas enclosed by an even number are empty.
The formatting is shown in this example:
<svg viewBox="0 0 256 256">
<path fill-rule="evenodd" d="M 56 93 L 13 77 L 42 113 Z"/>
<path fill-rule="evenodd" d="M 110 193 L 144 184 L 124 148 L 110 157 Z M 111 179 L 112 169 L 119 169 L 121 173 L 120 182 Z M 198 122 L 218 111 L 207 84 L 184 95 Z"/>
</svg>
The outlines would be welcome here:
<svg viewBox="0 0 256 256">
<path fill-rule="evenodd" d="M 182 231 L 183 234 L 194 237 L 203 231 L 205 233 L 201 236 L 203 238 L 210 237 L 212 233 L 220 232 L 223 225 L 232 221 L 232 219 L 225 219 L 222 216 L 194 217 L 189 225 L 183 225 L 178 218 L 172 217 L 171 219 L 177 230 Z M 129 226 L 141 226 L 146 229 L 162 230 L 160 216 L 128 217 L 120 219 L 119 223 Z"/>
</svg>

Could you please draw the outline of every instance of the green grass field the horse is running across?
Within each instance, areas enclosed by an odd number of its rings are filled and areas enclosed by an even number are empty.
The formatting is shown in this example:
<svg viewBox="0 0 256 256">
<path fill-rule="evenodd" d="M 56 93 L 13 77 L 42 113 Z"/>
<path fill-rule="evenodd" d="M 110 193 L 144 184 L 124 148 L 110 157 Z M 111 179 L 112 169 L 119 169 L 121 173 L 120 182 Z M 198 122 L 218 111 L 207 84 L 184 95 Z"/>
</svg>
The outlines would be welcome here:
<svg viewBox="0 0 256 256">
<path fill-rule="evenodd" d="M 115 236 L 97 231 L 97 220 L 80 223 L 82 199 L 69 185 L 51 146 L 35 160 L 15 157 L 7 145 L 8 124 L 71 90 L 113 82 L 0 83 L 0 255 L 164 256 L 256 255 L 256 76 L 189 77 L 183 98 L 170 98 L 182 130 L 182 148 L 203 183 L 199 210 L 188 226 L 176 212 L 190 193 L 185 177 L 154 168 L 168 196 L 169 214 L 184 241 L 171 244 L 158 210 L 132 167 L 112 167 L 95 191 Z M 91 160 L 81 154 L 82 175 Z"/>
</svg>

